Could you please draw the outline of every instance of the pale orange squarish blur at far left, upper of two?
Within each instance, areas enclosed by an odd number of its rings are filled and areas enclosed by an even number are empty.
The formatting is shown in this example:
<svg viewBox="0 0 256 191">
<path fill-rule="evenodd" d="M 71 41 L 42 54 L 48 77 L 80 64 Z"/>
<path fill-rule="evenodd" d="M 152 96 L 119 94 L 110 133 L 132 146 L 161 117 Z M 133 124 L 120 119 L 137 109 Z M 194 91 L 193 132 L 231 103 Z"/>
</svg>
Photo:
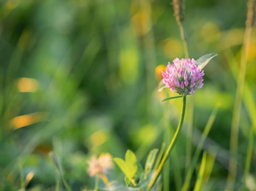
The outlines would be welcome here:
<svg viewBox="0 0 256 191">
<path fill-rule="evenodd" d="M 35 79 L 21 77 L 17 83 L 19 92 L 36 92 L 38 89 L 38 82 Z"/>
</svg>

